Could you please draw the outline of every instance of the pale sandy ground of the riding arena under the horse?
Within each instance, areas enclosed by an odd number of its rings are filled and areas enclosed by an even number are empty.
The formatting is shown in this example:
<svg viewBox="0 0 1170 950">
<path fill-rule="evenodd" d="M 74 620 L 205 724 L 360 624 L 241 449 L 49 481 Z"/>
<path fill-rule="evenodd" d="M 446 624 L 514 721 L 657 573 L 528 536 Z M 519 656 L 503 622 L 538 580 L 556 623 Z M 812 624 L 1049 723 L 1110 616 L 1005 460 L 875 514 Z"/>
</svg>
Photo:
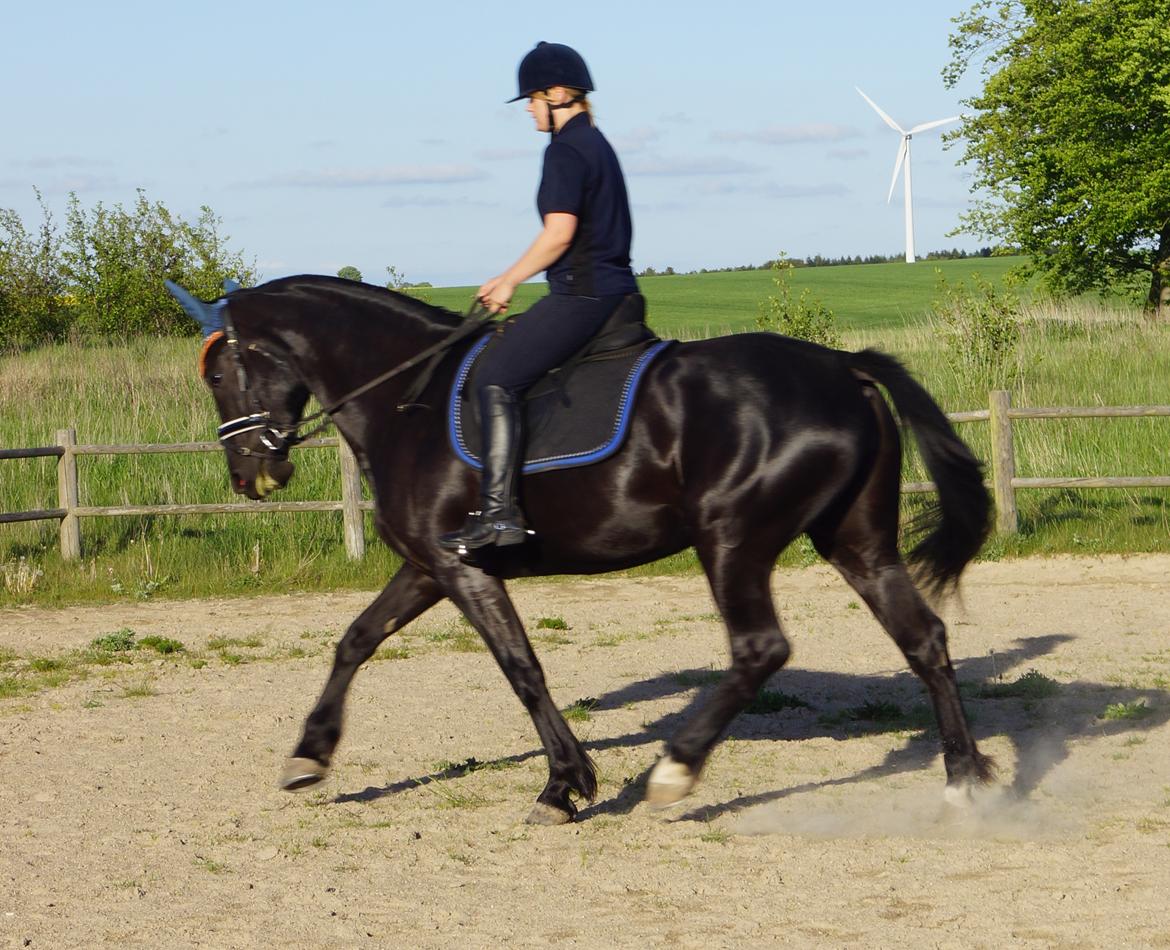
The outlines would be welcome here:
<svg viewBox="0 0 1170 950">
<path fill-rule="evenodd" d="M 0 945 L 1170 946 L 1168 581 L 1166 557 L 969 572 L 943 613 L 1000 784 L 957 817 L 922 690 L 830 570 L 775 578 L 770 686 L 807 705 L 741 716 L 666 813 L 646 770 L 725 665 L 704 581 L 516 585 L 553 698 L 593 701 L 600 794 L 558 828 L 523 824 L 543 755 L 447 605 L 359 674 L 300 796 L 276 775 L 370 596 L 0 611 L 29 659 L 186 646 L 0 700 Z M 1028 670 L 1057 695 L 980 694 Z"/>
</svg>

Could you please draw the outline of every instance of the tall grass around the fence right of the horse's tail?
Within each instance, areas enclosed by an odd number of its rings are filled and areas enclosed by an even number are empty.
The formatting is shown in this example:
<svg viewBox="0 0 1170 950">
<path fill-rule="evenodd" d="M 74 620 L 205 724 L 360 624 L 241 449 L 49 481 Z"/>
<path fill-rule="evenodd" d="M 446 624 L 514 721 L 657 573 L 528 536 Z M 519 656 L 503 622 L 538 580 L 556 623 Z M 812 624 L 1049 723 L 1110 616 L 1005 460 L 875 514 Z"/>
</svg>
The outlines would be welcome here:
<svg viewBox="0 0 1170 950">
<path fill-rule="evenodd" d="M 1136 310 L 1028 305 L 1019 343 L 997 378 L 964 373 L 942 337 L 937 322 L 928 321 L 854 332 L 847 343 L 899 354 L 949 411 L 985 408 L 992 387 L 1009 388 L 1014 406 L 1170 405 L 1170 326 Z M 957 428 L 980 459 L 991 457 L 986 422 Z M 1014 420 L 1013 441 L 1021 477 L 1170 475 L 1166 417 Z M 907 477 L 925 477 L 913 450 Z M 985 553 L 1170 551 L 1166 489 L 1032 489 L 1018 491 L 1017 504 L 1020 533 L 994 539 Z"/>
</svg>

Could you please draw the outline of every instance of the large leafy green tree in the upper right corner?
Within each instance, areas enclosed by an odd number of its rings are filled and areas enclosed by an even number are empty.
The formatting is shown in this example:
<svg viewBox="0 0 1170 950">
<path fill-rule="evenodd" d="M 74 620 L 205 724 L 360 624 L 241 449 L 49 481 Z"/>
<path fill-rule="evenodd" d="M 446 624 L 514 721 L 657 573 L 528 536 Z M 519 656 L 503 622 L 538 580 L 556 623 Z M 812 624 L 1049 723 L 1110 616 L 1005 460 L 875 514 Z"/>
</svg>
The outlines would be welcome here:
<svg viewBox="0 0 1170 950">
<path fill-rule="evenodd" d="M 948 87 L 983 91 L 966 140 L 963 230 L 1026 253 L 1058 294 L 1148 288 L 1170 317 L 1170 6 L 1165 0 L 979 0 L 956 18 Z"/>
</svg>

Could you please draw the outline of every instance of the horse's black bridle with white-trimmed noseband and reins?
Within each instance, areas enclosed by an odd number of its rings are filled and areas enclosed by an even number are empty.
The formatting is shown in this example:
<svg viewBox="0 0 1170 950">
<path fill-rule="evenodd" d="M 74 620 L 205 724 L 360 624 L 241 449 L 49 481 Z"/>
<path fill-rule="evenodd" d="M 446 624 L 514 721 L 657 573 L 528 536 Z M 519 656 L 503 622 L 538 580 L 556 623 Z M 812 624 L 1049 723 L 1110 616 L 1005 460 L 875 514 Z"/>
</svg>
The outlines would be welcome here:
<svg viewBox="0 0 1170 950">
<path fill-rule="evenodd" d="M 410 408 L 419 406 L 420 404 L 414 400 L 418 399 L 418 397 L 422 393 L 422 390 L 425 390 L 427 384 L 431 381 L 431 377 L 434 374 L 443 353 L 446 353 L 447 350 L 460 340 L 466 339 L 472 333 L 481 330 L 493 322 L 491 312 L 480 301 L 475 301 L 464 316 L 463 322 L 434 345 L 415 353 L 410 359 L 399 363 L 397 366 L 387 370 L 380 376 L 374 377 L 369 383 L 364 383 L 357 388 L 351 390 L 340 399 L 330 402 L 328 406 L 324 406 L 311 415 L 307 415 L 300 421 L 281 422 L 273 418 L 273 414 L 266 409 L 263 404 L 260 401 L 260 397 L 248 385 L 248 371 L 245 369 L 243 357 L 240 352 L 240 337 L 235 331 L 235 324 L 232 322 L 229 308 L 223 307 L 221 316 L 223 319 L 225 344 L 232 353 L 232 362 L 235 365 L 236 384 L 239 385 L 241 394 L 243 394 L 246 399 L 250 400 L 252 412 L 248 413 L 248 415 L 240 415 L 223 422 L 215 429 L 215 435 L 223 448 L 228 452 L 254 459 L 271 459 L 274 461 L 284 461 L 288 459 L 289 450 L 294 446 L 305 441 L 312 435 L 316 435 L 318 432 L 331 425 L 333 421 L 331 418 L 332 414 L 346 402 L 351 402 L 359 395 L 364 395 L 388 379 L 393 379 L 395 376 L 400 376 L 408 370 L 413 370 L 421 363 L 429 360 L 424 373 L 414 381 L 414 385 L 411 386 L 404 395 L 402 401 L 399 402 L 395 408 L 398 412 L 406 412 Z M 270 353 L 259 344 L 248 344 L 248 350 L 262 353 L 277 366 L 283 367 L 290 373 L 292 372 L 292 367 L 289 366 L 287 360 Z M 312 428 L 302 432 L 304 426 L 309 426 L 314 422 L 316 422 L 316 425 L 314 425 Z M 229 440 L 248 432 L 256 432 L 257 429 L 260 431 L 260 443 L 268 449 L 267 453 L 250 449 L 247 446 L 229 443 Z"/>
</svg>

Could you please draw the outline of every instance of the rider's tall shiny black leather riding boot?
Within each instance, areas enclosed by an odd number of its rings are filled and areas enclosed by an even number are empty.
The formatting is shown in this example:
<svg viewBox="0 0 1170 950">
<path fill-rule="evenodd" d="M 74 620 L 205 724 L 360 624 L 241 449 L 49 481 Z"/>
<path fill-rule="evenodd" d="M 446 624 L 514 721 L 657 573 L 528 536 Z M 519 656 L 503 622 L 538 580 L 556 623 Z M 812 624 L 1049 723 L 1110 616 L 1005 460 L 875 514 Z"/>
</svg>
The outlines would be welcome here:
<svg viewBox="0 0 1170 950">
<path fill-rule="evenodd" d="M 442 535 L 439 544 L 453 551 L 472 551 L 495 544 L 519 544 L 528 537 L 524 515 L 516 504 L 516 477 L 521 464 L 521 407 L 503 386 L 484 386 L 480 400 L 483 425 L 483 484 L 481 510 L 459 531 Z"/>
</svg>

